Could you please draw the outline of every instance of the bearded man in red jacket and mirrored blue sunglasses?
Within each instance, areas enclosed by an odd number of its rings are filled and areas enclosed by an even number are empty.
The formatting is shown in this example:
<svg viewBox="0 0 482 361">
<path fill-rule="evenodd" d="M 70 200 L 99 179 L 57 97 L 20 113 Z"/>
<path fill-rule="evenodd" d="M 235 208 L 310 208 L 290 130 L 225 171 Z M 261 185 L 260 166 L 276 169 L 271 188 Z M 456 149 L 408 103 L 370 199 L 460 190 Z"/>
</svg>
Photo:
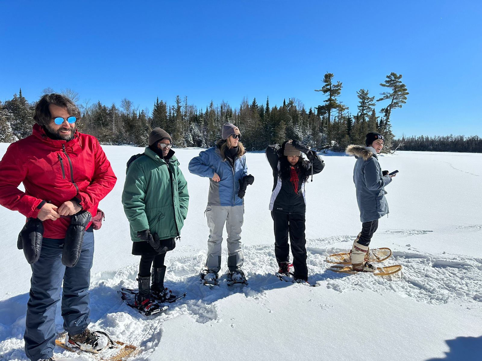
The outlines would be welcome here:
<svg viewBox="0 0 482 361">
<path fill-rule="evenodd" d="M 55 310 L 63 281 L 62 316 L 67 344 L 95 352 L 103 339 L 87 328 L 90 269 L 94 233 L 86 226 L 80 258 L 62 264 L 62 247 L 71 216 L 88 211 L 116 183 L 116 176 L 97 139 L 75 129 L 77 106 L 60 94 L 46 94 L 35 107 L 32 135 L 12 143 L 0 161 L 0 205 L 27 218 L 40 219 L 43 239 L 38 260 L 31 264 L 25 352 L 30 360 L 54 360 Z M 18 189 L 23 183 L 25 192 Z"/>
</svg>

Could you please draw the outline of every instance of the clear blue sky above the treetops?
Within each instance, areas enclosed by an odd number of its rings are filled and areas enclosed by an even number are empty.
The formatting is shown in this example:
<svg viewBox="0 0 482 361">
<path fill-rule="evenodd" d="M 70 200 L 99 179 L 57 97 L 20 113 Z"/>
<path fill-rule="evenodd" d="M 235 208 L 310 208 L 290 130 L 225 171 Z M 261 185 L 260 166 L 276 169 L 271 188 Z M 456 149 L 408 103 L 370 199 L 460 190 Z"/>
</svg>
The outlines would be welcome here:
<svg viewBox="0 0 482 361">
<path fill-rule="evenodd" d="M 356 91 L 378 99 L 395 72 L 410 92 L 395 135 L 482 135 L 480 1 L 1 1 L 0 18 L 2 101 L 51 87 L 141 109 L 176 95 L 308 109 L 330 72 L 356 114 Z"/>
</svg>

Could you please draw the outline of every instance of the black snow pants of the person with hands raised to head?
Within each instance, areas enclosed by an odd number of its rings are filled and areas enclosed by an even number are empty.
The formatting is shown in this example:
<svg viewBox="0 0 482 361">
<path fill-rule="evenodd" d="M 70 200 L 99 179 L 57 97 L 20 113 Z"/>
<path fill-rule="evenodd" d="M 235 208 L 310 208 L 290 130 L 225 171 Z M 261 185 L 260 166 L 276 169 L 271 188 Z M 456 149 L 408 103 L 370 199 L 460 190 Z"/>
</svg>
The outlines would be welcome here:
<svg viewBox="0 0 482 361">
<path fill-rule="evenodd" d="M 289 232 L 291 252 L 293 253 L 293 266 L 295 267 L 295 278 L 308 281 L 305 215 L 271 211 L 271 217 L 274 221 L 274 253 L 278 264 L 289 262 L 290 260 L 290 246 L 288 245 Z"/>
</svg>

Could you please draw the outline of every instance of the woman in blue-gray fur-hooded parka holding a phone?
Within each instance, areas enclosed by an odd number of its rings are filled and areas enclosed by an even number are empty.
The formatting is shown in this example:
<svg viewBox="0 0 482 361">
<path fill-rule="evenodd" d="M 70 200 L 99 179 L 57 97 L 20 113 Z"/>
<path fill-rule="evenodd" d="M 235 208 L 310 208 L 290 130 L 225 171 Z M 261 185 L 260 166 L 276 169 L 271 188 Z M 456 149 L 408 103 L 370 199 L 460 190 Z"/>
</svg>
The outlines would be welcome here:
<svg viewBox="0 0 482 361">
<path fill-rule="evenodd" d="M 368 245 L 378 228 L 378 219 L 388 214 L 384 187 L 395 175 L 383 175 L 377 153 L 383 148 L 385 138 L 372 131 L 366 135 L 366 147 L 348 145 L 346 153 L 357 158 L 353 169 L 353 181 L 357 193 L 362 232 L 351 248 L 351 265 L 354 271 L 375 272 L 376 267 L 367 262 Z M 388 172 L 387 172 L 388 173 Z"/>
</svg>

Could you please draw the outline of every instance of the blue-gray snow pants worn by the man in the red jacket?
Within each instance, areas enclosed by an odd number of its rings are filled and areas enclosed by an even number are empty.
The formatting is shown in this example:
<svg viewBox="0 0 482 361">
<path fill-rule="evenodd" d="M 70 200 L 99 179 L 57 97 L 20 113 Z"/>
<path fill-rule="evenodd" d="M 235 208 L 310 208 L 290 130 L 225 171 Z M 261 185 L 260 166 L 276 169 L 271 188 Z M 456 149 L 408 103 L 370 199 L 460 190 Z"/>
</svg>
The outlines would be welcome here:
<svg viewBox="0 0 482 361">
<path fill-rule="evenodd" d="M 94 258 L 92 227 L 84 234 L 80 259 L 74 267 L 62 264 L 63 244 L 63 239 L 44 238 L 39 260 L 30 265 L 32 278 L 24 339 L 25 353 L 33 361 L 54 355 L 55 311 L 61 289 L 64 330 L 78 335 L 90 323 L 89 285 Z"/>
</svg>

